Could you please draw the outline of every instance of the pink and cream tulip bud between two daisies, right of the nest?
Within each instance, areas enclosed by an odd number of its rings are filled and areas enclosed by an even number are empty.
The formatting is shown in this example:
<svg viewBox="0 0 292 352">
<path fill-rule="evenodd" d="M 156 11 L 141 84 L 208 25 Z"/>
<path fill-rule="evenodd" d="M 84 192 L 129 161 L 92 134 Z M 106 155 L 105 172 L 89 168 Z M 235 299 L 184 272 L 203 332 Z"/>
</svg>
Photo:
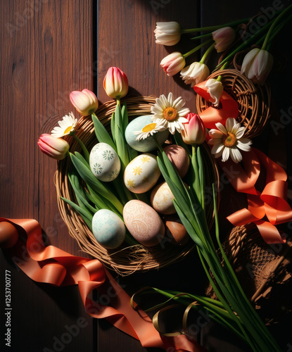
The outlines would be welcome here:
<svg viewBox="0 0 292 352">
<path fill-rule="evenodd" d="M 202 144 L 205 141 L 205 125 L 196 113 L 189 113 L 186 115 L 186 120 L 189 122 L 184 123 L 182 130 L 182 140 L 186 144 Z"/>
</svg>

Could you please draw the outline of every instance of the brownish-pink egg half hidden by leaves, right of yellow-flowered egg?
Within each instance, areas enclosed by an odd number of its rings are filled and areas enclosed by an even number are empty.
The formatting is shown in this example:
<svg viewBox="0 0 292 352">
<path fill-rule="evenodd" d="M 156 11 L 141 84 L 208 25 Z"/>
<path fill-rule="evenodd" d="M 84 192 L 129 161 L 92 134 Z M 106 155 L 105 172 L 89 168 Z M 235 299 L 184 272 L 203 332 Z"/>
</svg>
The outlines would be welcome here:
<svg viewBox="0 0 292 352">
<path fill-rule="evenodd" d="M 189 155 L 182 146 L 170 144 L 163 149 L 177 170 L 180 177 L 184 177 L 189 170 Z"/>
</svg>

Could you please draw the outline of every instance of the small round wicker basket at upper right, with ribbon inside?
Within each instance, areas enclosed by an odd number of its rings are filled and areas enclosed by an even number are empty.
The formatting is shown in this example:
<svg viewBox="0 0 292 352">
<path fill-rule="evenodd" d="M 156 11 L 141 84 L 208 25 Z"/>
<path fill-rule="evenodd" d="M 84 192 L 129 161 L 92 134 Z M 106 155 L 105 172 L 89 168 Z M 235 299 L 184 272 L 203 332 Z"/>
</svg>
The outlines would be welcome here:
<svg viewBox="0 0 292 352">
<path fill-rule="evenodd" d="M 269 86 L 253 84 L 246 76 L 241 75 L 239 70 L 228 69 L 215 71 L 208 78 L 222 76 L 224 90 L 239 104 L 239 117 L 237 118 L 246 127 L 245 137 L 258 136 L 265 127 L 271 114 L 271 92 Z M 198 114 L 211 106 L 212 103 L 205 101 L 197 95 L 196 108 Z"/>
</svg>

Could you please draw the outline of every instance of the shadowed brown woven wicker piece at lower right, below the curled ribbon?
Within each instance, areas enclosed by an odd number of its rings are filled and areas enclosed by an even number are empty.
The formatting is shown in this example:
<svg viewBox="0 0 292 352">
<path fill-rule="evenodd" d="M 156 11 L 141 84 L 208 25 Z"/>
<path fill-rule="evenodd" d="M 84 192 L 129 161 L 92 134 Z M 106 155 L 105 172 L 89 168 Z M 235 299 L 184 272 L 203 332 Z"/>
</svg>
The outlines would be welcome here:
<svg viewBox="0 0 292 352">
<path fill-rule="evenodd" d="M 253 223 L 234 227 L 224 251 L 248 299 L 267 325 L 292 310 L 292 243 L 265 243 Z M 223 262 L 224 263 L 224 262 Z M 216 298 L 211 286 L 208 296 Z M 281 299 L 279 299 L 281 297 Z"/>
</svg>

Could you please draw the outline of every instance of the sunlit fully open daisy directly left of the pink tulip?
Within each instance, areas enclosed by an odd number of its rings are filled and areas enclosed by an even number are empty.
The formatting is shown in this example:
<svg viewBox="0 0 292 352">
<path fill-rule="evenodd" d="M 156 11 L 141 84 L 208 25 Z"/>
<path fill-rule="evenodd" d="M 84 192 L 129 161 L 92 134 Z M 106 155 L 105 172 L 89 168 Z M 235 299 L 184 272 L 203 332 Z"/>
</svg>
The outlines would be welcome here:
<svg viewBox="0 0 292 352">
<path fill-rule="evenodd" d="M 165 129 L 170 130 L 171 134 L 174 134 L 175 130 L 179 133 L 182 132 L 183 123 L 188 122 L 184 116 L 190 112 L 188 108 L 183 108 L 184 104 L 185 101 L 181 96 L 173 100 L 171 92 L 167 98 L 164 94 L 160 95 L 159 98 L 156 98 L 154 106 L 151 106 L 152 121 L 161 122 Z"/>
</svg>

